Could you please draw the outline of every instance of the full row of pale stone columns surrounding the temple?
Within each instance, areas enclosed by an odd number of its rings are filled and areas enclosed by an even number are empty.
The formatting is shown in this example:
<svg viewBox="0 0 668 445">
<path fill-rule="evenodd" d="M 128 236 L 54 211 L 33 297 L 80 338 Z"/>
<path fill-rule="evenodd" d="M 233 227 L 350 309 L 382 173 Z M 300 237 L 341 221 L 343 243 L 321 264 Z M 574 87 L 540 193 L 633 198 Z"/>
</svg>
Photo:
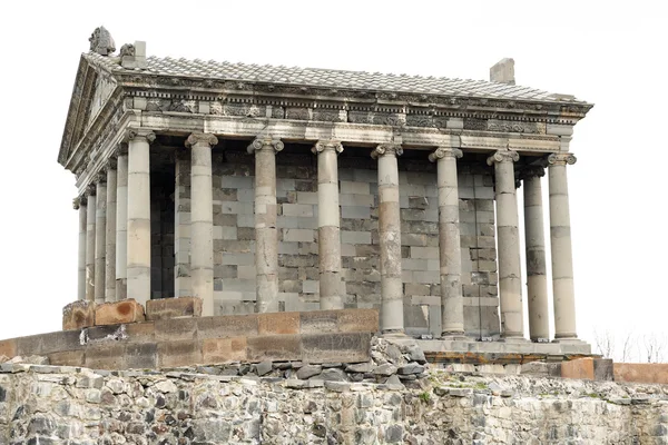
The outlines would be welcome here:
<svg viewBox="0 0 668 445">
<path fill-rule="evenodd" d="M 130 130 L 95 186 L 75 200 L 79 210 L 78 298 L 114 301 L 150 298 L 150 159 L 151 131 Z M 203 299 L 203 315 L 214 315 L 212 148 L 218 139 L 196 132 L 186 140 L 190 148 L 190 290 Z M 278 235 L 276 155 L 281 140 L 258 137 L 249 146 L 255 156 L 255 266 L 256 312 L 278 310 Z M 338 167 L 343 146 L 321 140 L 317 156 L 318 267 L 322 309 L 342 309 Z M 401 212 L 397 158 L 401 145 L 382 144 L 372 150 L 377 161 L 379 237 L 381 268 L 381 329 L 403 333 L 403 284 L 401 264 Z M 438 167 L 439 254 L 442 336 L 464 336 L 464 300 L 455 147 L 438 147 L 429 160 Z M 488 158 L 494 167 L 497 239 L 502 337 L 522 340 L 523 301 L 520 264 L 519 214 L 515 195 L 515 151 L 503 149 Z M 577 338 L 572 253 L 566 165 L 570 154 L 548 158 L 550 188 L 550 239 L 552 289 L 557 340 Z M 540 178 L 542 168 L 522 170 L 529 326 L 532 340 L 549 337 L 548 278 Z"/>
</svg>

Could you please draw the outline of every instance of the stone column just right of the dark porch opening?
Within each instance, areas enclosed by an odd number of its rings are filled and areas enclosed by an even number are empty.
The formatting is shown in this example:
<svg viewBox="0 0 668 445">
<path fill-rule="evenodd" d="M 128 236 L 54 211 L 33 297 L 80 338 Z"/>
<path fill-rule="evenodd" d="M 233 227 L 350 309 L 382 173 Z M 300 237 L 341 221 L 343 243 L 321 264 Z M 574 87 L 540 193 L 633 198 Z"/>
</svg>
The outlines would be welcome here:
<svg viewBox="0 0 668 445">
<path fill-rule="evenodd" d="M 212 148 L 218 139 L 194 132 L 190 148 L 190 277 L 193 296 L 202 298 L 202 315 L 214 315 L 214 197 Z"/>
</svg>

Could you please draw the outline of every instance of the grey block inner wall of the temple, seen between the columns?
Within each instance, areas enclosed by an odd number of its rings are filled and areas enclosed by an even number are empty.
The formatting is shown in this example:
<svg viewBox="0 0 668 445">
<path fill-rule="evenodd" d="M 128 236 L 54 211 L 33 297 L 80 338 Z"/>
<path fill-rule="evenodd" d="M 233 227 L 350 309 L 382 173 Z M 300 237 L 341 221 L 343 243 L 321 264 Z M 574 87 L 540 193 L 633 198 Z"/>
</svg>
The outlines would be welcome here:
<svg viewBox="0 0 668 445">
<path fill-rule="evenodd" d="M 411 334 L 441 332 L 438 190 L 426 151 L 400 158 L 404 314 Z M 460 215 L 466 334 L 499 334 L 494 202 L 484 160 L 462 159 Z M 281 310 L 318 309 L 317 167 L 307 146 L 286 145 L 276 156 Z M 180 174 L 183 171 L 183 174 Z M 176 267 L 187 289 L 189 178 L 177 160 Z M 217 314 L 248 314 L 255 305 L 254 158 L 226 141 L 213 158 L 214 298 Z M 377 171 L 367 148 L 338 158 L 342 267 L 346 308 L 379 308 Z M 178 281 L 178 278 L 177 278 Z"/>
</svg>

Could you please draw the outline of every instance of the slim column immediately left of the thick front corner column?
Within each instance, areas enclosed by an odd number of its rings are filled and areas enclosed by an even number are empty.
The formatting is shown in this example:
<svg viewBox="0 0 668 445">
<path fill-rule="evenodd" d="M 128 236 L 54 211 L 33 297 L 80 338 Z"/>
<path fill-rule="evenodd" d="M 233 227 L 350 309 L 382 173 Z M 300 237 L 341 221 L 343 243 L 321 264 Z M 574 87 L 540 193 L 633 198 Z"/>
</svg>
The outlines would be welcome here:
<svg viewBox="0 0 668 445">
<path fill-rule="evenodd" d="M 116 170 L 116 300 L 128 296 L 128 145 L 118 150 Z"/>
</svg>

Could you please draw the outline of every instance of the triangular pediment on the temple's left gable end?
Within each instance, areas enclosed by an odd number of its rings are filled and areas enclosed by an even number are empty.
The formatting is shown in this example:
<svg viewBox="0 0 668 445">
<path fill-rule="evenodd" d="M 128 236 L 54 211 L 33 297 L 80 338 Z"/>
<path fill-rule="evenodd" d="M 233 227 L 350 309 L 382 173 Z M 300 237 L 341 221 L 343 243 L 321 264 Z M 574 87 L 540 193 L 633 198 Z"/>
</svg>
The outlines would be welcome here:
<svg viewBox="0 0 668 445">
<path fill-rule="evenodd" d="M 68 167 L 75 148 L 116 87 L 117 81 L 109 72 L 81 56 L 58 154 L 58 162 L 63 167 Z"/>
</svg>

